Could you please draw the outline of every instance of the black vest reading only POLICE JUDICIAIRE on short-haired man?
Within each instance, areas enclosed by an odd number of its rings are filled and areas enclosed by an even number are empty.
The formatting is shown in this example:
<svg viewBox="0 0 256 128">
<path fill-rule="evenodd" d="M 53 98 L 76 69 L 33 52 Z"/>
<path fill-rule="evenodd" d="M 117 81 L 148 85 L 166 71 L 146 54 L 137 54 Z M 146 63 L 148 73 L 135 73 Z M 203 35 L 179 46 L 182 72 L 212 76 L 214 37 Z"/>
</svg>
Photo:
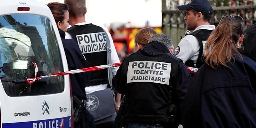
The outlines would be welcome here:
<svg viewBox="0 0 256 128">
<path fill-rule="evenodd" d="M 107 37 L 104 30 L 93 24 L 74 25 L 68 29 L 72 38 L 78 43 L 82 54 L 90 63 L 90 66 L 107 65 Z M 89 85 L 108 83 L 108 70 L 92 71 Z"/>
</svg>

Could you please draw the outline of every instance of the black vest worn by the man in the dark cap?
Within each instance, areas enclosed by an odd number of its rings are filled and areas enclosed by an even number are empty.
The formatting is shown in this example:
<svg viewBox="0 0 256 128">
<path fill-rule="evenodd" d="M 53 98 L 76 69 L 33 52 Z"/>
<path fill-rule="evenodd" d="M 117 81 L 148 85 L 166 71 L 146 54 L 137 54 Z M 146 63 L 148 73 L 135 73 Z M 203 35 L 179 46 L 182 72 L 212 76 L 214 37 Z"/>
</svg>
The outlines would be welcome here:
<svg viewBox="0 0 256 128">
<path fill-rule="evenodd" d="M 200 68 L 205 63 L 204 59 L 202 59 L 203 41 L 206 41 L 211 33 L 212 33 L 212 30 L 207 30 L 207 29 L 199 29 L 197 31 L 194 31 L 193 33 L 189 33 L 189 35 L 193 35 L 194 37 L 197 38 L 197 40 L 199 42 L 200 49 L 199 49 L 199 55 L 198 55 L 197 62 L 196 62 L 196 67 L 194 65 L 193 60 L 187 60 L 185 62 L 186 66 Z M 186 34 L 186 35 L 188 35 L 188 34 Z"/>
</svg>

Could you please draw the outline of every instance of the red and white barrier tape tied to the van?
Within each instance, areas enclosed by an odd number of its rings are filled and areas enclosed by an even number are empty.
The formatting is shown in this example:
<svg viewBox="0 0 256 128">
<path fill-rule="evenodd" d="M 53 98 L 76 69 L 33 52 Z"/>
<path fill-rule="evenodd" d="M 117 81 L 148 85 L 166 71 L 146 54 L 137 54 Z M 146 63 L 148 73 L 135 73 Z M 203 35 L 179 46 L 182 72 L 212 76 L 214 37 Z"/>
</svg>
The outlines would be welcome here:
<svg viewBox="0 0 256 128">
<path fill-rule="evenodd" d="M 96 70 L 102 70 L 102 69 L 106 69 L 106 68 L 112 68 L 112 67 L 118 67 L 121 65 L 122 62 L 120 63 L 112 63 L 110 65 L 101 65 L 101 66 L 95 66 L 95 67 L 89 67 L 89 68 L 83 68 L 83 69 L 76 69 L 76 70 L 70 70 L 70 71 L 66 71 L 66 72 L 59 72 L 59 73 L 54 73 L 54 74 L 48 74 L 48 75 L 44 75 L 44 76 L 39 76 L 37 77 L 37 72 L 38 72 L 38 67 L 37 64 L 32 62 L 34 64 L 34 68 L 35 68 L 35 77 L 34 78 L 27 78 L 27 83 L 28 84 L 32 84 L 33 82 L 35 82 L 35 80 L 37 79 L 42 79 L 44 77 L 51 77 L 51 76 L 60 76 L 60 75 L 68 75 L 68 74 L 75 74 L 75 73 L 81 73 L 81 72 L 88 72 L 88 71 L 96 71 Z M 187 67 L 188 71 L 190 73 L 194 73 L 196 74 L 197 72 L 197 68 L 192 68 L 192 67 Z"/>
</svg>

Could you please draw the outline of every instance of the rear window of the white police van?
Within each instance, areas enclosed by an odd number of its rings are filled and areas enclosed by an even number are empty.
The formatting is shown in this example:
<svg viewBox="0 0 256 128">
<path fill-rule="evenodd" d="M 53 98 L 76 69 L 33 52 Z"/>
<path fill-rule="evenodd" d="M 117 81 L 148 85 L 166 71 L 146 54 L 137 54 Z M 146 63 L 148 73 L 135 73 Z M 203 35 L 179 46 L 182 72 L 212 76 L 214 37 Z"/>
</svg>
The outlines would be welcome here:
<svg viewBox="0 0 256 128">
<path fill-rule="evenodd" d="M 55 24 L 55 23 L 54 23 Z M 64 77 L 45 77 L 32 84 L 27 78 L 63 72 L 57 38 L 51 21 L 33 14 L 0 16 L 0 78 L 8 96 L 61 93 Z"/>
</svg>

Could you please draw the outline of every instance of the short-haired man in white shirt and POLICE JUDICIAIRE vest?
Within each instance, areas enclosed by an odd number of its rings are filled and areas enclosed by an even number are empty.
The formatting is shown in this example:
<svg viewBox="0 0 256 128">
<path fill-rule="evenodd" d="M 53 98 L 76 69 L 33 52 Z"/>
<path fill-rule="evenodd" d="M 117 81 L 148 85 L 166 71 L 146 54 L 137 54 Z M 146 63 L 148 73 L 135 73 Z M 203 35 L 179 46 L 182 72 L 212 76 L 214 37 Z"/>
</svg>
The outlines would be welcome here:
<svg viewBox="0 0 256 128">
<path fill-rule="evenodd" d="M 97 25 L 85 22 L 84 16 L 87 11 L 85 0 L 65 0 L 64 2 L 68 5 L 69 23 L 72 26 L 68 29 L 65 38 L 73 38 L 78 43 L 90 65 L 93 67 L 120 62 L 110 33 L 104 32 L 103 28 Z M 110 74 L 107 69 L 91 72 L 89 84 L 85 87 L 86 94 L 106 89 L 117 69 L 118 67 L 111 68 Z M 120 97 L 121 95 L 117 94 L 116 107 L 114 106 L 113 109 L 118 109 L 120 106 Z M 101 126 L 96 122 L 96 128 L 99 127 Z M 104 125 L 103 127 L 112 126 Z"/>
</svg>

